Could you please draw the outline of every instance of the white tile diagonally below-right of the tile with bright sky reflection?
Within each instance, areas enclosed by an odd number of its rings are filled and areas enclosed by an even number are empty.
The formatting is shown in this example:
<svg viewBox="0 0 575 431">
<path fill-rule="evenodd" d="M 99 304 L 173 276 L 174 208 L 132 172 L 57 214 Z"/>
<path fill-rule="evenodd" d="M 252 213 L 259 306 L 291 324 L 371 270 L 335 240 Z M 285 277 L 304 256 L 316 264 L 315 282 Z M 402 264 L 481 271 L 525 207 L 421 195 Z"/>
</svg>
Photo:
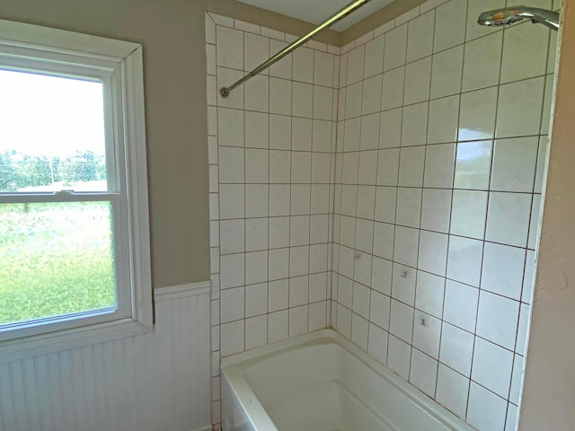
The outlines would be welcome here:
<svg viewBox="0 0 575 431">
<path fill-rule="evenodd" d="M 531 210 L 531 195 L 490 193 L 485 239 L 525 247 Z"/>
</svg>

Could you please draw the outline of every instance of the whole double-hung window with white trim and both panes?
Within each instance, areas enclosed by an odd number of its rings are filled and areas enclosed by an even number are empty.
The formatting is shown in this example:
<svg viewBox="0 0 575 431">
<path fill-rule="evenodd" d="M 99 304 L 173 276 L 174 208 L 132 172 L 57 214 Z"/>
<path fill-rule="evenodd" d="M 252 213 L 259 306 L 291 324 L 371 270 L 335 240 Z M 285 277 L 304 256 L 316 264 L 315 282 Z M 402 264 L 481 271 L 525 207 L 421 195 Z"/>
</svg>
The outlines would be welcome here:
<svg viewBox="0 0 575 431">
<path fill-rule="evenodd" d="M 0 94 L 0 355 L 151 329 L 141 46 L 0 20 Z"/>
</svg>

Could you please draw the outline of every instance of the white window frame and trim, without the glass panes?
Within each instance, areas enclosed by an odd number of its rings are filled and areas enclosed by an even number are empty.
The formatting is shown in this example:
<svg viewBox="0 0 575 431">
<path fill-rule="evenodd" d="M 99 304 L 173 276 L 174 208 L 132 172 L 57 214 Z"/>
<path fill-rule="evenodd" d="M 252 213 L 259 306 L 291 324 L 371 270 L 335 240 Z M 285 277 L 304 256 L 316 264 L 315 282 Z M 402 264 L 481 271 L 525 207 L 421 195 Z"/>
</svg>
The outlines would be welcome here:
<svg viewBox="0 0 575 431">
<path fill-rule="evenodd" d="M 118 308 L 115 312 L 31 323 L 0 332 L 0 362 L 48 354 L 153 329 L 142 46 L 122 40 L 0 20 L 0 66 L 104 83 L 107 193 L 35 194 L 33 202 L 114 200 Z M 106 108 L 107 107 L 107 108 Z M 105 196 L 104 196 L 105 195 Z M 92 199 L 93 198 L 93 199 Z M 22 199 L 0 194 L 0 204 Z"/>
</svg>

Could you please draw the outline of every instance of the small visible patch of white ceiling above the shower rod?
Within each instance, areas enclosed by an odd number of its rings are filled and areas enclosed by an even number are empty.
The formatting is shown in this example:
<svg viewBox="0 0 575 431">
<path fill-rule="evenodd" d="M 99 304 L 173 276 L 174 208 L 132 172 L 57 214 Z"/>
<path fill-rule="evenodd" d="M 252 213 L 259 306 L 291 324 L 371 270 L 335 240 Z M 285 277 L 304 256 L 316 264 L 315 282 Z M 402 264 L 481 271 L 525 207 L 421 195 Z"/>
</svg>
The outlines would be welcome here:
<svg viewBox="0 0 575 431">
<path fill-rule="evenodd" d="M 338 12 L 350 3 L 350 0 L 239 0 L 245 4 L 261 7 L 268 11 L 281 13 L 314 24 L 321 24 L 327 18 Z M 375 13 L 394 0 L 371 0 L 360 7 L 356 12 L 345 17 L 341 22 L 332 26 L 333 30 L 344 31 L 356 22 Z"/>
</svg>

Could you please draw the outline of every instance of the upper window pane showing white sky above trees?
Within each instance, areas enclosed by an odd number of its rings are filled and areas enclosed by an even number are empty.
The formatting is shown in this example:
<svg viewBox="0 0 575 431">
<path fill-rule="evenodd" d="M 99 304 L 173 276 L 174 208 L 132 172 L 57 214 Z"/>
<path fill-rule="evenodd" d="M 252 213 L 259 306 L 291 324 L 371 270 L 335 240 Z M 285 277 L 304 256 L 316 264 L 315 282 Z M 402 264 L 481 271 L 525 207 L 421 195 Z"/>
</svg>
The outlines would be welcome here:
<svg viewBox="0 0 575 431">
<path fill-rule="evenodd" d="M 108 191 L 102 91 L 0 70 L 0 193 Z"/>
</svg>

